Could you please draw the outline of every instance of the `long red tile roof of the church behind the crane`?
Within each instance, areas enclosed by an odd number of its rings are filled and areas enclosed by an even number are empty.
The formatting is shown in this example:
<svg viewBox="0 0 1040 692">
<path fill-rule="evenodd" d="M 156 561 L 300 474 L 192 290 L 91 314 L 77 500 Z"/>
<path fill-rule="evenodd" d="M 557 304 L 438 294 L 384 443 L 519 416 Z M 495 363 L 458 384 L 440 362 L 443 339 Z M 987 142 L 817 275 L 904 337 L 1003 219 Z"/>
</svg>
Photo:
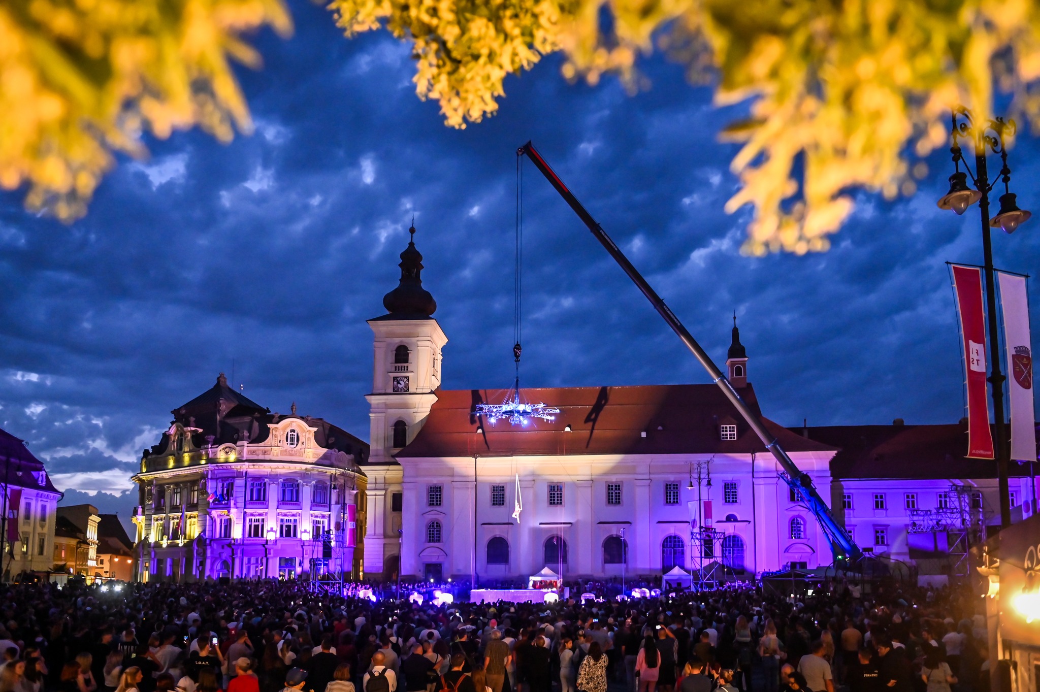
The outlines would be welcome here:
<svg viewBox="0 0 1040 692">
<path fill-rule="evenodd" d="M 522 390 L 529 403 L 555 406 L 553 421 L 526 427 L 487 424 L 472 414 L 477 403 L 500 403 L 503 390 L 440 390 L 422 429 L 398 458 L 574 454 L 764 453 L 765 447 L 714 384 L 568 387 Z M 758 410 L 754 390 L 740 390 Z M 737 438 L 723 442 L 719 425 L 735 424 Z M 788 452 L 835 448 L 806 440 L 765 421 Z M 564 428 L 570 425 L 571 432 Z M 483 434 L 476 432 L 483 427 Z M 646 432 L 646 437 L 643 436 Z"/>
</svg>

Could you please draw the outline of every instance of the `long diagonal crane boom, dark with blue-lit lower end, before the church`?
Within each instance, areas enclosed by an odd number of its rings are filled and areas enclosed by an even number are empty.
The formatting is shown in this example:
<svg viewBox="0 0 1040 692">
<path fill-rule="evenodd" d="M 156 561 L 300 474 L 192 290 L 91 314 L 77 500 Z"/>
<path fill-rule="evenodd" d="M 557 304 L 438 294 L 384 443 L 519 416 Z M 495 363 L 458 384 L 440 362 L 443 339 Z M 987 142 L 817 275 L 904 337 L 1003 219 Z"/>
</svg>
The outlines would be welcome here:
<svg viewBox="0 0 1040 692">
<path fill-rule="evenodd" d="M 621 251 L 615 242 L 610 239 L 603 228 L 596 222 L 596 219 L 592 217 L 581 203 L 578 202 L 577 197 L 574 196 L 564 182 L 560 180 L 560 177 L 553 172 L 552 168 L 546 163 L 542 155 L 538 153 L 535 145 L 531 142 L 527 142 L 519 150 L 517 150 L 517 156 L 526 156 L 530 159 L 531 163 L 542 171 L 546 180 L 556 189 L 556 192 L 564 198 L 564 201 L 570 205 L 574 213 L 578 215 L 578 218 L 589 228 L 592 235 L 596 237 L 596 240 L 600 242 L 601 245 L 610 254 L 610 257 L 621 265 L 628 277 L 632 280 L 632 283 L 639 287 L 643 295 L 647 297 L 650 303 L 654 307 L 657 313 L 668 322 L 668 325 L 672 327 L 672 330 L 678 335 L 682 343 L 686 345 L 694 356 L 700 362 L 700 364 L 707 370 L 708 375 L 711 380 L 719 385 L 719 389 L 723 391 L 726 398 L 729 399 L 730 403 L 739 411 L 744 420 L 747 421 L 751 429 L 755 431 L 758 438 L 762 441 L 765 445 L 765 449 L 773 454 L 773 457 L 777 460 L 780 467 L 783 469 L 786 475 L 785 481 L 790 485 L 791 488 L 796 490 L 799 497 L 805 502 L 806 506 L 816 517 L 816 522 L 820 524 L 824 535 L 827 538 L 827 542 L 830 543 L 831 553 L 835 561 L 858 561 L 863 557 L 862 551 L 859 547 L 849 537 L 844 529 L 837 523 L 834 518 L 834 514 L 831 513 L 830 507 L 824 502 L 823 498 L 816 491 L 815 486 L 812 484 L 812 479 L 809 475 L 803 473 L 801 469 L 791 460 L 787 453 L 780 447 L 780 442 L 775 435 L 770 433 L 765 428 L 765 424 L 758 415 L 740 398 L 740 395 L 733 388 L 733 384 L 726 378 L 719 367 L 711 361 L 710 356 L 701 348 L 701 345 L 697 343 L 693 335 L 686 329 L 686 327 L 679 321 L 679 318 L 675 316 L 675 313 L 665 303 L 657 292 L 653 290 L 650 284 L 647 283 L 643 275 L 632 266 L 632 263 L 628 261 L 625 254 Z M 848 562 L 846 562 L 848 564 Z"/>
</svg>

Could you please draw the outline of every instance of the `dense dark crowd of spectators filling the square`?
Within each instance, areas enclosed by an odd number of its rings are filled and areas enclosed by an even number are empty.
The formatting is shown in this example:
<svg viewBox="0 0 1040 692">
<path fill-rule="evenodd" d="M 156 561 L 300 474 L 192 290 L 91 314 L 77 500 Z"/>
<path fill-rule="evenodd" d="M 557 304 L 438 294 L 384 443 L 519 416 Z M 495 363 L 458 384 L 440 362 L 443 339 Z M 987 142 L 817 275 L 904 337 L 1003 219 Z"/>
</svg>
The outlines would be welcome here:
<svg viewBox="0 0 1040 692">
<path fill-rule="evenodd" d="M 987 692 L 978 596 L 833 583 L 433 606 L 308 583 L 0 586 L 0 692 Z"/>
</svg>

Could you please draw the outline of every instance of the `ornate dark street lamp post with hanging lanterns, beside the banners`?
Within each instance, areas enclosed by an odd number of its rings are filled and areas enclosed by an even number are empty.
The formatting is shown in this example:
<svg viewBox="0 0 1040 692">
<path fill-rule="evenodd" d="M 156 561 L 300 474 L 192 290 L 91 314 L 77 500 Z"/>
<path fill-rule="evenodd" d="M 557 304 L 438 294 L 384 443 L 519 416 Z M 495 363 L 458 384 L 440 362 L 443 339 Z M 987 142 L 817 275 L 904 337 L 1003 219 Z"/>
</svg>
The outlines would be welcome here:
<svg viewBox="0 0 1040 692">
<path fill-rule="evenodd" d="M 939 209 L 950 209 L 961 215 L 967 208 L 979 202 L 982 216 L 982 251 L 983 271 L 986 274 L 986 318 L 989 327 L 989 377 L 993 395 L 993 419 L 996 427 L 996 474 L 1000 494 L 1000 528 L 1011 526 L 1011 500 L 1008 491 L 1008 463 L 1011 451 L 1005 431 L 1004 421 L 1004 380 L 1000 372 L 1000 353 L 997 347 L 999 334 L 996 321 L 996 293 L 993 287 L 993 248 L 990 239 L 990 229 L 1004 229 L 1006 233 L 1014 233 L 1019 225 L 1029 220 L 1032 214 L 1023 211 L 1015 204 L 1015 195 L 1010 190 L 1011 168 L 1008 167 L 1008 148 L 1005 135 L 1015 134 L 1015 122 L 997 117 L 986 123 L 976 123 L 971 112 L 966 108 L 958 108 L 951 114 L 951 148 L 954 159 L 954 175 L 950 177 L 950 191 L 939 199 Z M 968 160 L 961 151 L 959 139 L 969 141 L 974 150 L 976 172 L 971 175 Z M 995 181 L 989 182 L 986 169 L 988 151 L 1000 157 L 1000 180 L 1004 183 L 1004 194 L 1000 195 L 1000 211 L 996 216 L 989 216 L 989 193 Z M 961 170 L 961 164 L 964 170 Z M 973 188 L 967 184 L 970 176 Z"/>
</svg>

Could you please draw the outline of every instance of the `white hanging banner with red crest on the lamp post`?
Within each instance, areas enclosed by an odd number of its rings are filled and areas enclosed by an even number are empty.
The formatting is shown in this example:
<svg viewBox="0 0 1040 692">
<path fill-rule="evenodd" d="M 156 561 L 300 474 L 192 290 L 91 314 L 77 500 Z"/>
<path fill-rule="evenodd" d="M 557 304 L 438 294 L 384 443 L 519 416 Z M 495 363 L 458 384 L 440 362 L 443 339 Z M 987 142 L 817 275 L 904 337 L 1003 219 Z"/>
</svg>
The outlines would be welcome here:
<svg viewBox="0 0 1040 692">
<path fill-rule="evenodd" d="M 1033 418 L 1033 351 L 1030 343 L 1030 302 L 1025 277 L 997 272 L 1004 347 L 1008 354 L 1008 398 L 1011 400 L 1011 458 L 1034 460 L 1037 454 Z"/>
</svg>

